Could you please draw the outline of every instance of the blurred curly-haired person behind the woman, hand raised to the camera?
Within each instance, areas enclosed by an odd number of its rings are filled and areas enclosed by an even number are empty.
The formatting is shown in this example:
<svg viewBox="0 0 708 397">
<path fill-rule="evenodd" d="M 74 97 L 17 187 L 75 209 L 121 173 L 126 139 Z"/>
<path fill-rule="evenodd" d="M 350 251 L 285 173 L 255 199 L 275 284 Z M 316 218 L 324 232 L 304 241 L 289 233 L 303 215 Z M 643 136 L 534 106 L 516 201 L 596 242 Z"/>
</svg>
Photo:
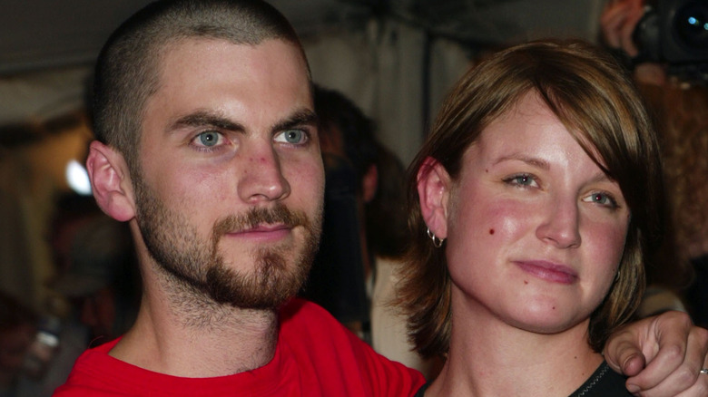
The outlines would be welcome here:
<svg viewBox="0 0 708 397">
<path fill-rule="evenodd" d="M 600 18 L 602 39 L 625 65 L 653 112 L 664 160 L 668 233 L 647 265 L 649 287 L 640 315 L 686 310 L 708 326 L 708 82 L 690 82 L 647 60 L 635 42 L 644 0 L 608 2 Z M 695 278 L 692 280 L 693 272 Z M 685 305 L 684 305 L 685 303 Z"/>
</svg>

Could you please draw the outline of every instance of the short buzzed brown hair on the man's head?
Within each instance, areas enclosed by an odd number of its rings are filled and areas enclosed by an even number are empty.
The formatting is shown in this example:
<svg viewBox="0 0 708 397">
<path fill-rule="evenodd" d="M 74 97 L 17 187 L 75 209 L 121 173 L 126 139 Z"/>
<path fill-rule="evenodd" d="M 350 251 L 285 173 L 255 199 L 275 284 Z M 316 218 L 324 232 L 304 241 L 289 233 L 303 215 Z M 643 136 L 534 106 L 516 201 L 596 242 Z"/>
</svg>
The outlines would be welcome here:
<svg viewBox="0 0 708 397">
<path fill-rule="evenodd" d="M 245 45 L 280 39 L 298 47 L 307 64 L 288 20 L 261 0 L 162 0 L 145 6 L 103 45 L 93 82 L 96 139 L 123 154 L 133 177 L 140 169 L 145 103 L 159 88 L 164 50 L 188 38 Z"/>
</svg>

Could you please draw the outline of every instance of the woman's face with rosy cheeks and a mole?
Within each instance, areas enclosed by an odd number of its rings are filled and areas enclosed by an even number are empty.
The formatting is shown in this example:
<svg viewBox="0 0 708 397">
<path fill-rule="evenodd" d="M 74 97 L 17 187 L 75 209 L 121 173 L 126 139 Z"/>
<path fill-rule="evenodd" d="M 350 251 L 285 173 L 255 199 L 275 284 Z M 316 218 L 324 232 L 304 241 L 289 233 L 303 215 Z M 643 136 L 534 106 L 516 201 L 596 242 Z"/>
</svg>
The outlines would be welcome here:
<svg viewBox="0 0 708 397">
<path fill-rule="evenodd" d="M 453 296 L 536 333 L 586 326 L 615 279 L 630 212 L 546 104 L 528 94 L 492 122 L 449 183 L 438 236 Z"/>
</svg>

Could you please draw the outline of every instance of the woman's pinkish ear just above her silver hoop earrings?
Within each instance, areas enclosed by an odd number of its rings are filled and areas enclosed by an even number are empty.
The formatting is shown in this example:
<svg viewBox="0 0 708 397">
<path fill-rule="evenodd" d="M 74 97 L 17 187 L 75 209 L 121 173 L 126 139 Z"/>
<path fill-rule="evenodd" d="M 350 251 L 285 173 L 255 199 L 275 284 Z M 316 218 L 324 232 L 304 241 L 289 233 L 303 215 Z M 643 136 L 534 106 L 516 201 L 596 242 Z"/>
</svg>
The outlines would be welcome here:
<svg viewBox="0 0 708 397">
<path fill-rule="evenodd" d="M 431 232 L 447 238 L 447 202 L 451 179 L 445 167 L 431 157 L 418 169 L 418 199 L 420 211 Z"/>
</svg>

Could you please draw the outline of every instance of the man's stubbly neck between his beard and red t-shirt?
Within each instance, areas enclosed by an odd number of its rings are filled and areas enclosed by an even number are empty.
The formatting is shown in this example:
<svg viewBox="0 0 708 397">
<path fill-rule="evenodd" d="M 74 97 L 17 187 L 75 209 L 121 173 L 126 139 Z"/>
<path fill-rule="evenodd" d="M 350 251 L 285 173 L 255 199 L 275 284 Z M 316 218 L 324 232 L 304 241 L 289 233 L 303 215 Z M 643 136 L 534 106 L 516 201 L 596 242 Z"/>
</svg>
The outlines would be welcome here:
<svg viewBox="0 0 708 397">
<path fill-rule="evenodd" d="M 110 354 L 173 376 L 213 377 L 269 363 L 278 340 L 274 310 L 218 304 L 184 288 L 146 283 L 131 330 Z"/>
</svg>

